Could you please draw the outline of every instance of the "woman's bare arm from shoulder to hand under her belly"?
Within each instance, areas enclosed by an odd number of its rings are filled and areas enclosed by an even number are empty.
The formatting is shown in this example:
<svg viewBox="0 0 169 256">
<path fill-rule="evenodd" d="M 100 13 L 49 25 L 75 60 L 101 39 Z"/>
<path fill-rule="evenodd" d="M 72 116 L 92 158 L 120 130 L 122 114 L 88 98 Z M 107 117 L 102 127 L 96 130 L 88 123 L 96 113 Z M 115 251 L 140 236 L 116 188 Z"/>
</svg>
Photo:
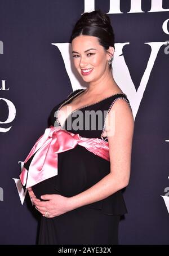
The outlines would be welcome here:
<svg viewBox="0 0 169 256">
<path fill-rule="evenodd" d="M 34 201 L 39 211 L 50 217 L 103 200 L 127 186 L 130 178 L 132 137 L 134 118 L 126 101 L 118 99 L 112 106 L 106 120 L 106 135 L 109 142 L 110 173 L 91 188 L 73 197 L 43 195 L 46 202 Z M 33 198 L 34 200 L 34 198 Z"/>
</svg>

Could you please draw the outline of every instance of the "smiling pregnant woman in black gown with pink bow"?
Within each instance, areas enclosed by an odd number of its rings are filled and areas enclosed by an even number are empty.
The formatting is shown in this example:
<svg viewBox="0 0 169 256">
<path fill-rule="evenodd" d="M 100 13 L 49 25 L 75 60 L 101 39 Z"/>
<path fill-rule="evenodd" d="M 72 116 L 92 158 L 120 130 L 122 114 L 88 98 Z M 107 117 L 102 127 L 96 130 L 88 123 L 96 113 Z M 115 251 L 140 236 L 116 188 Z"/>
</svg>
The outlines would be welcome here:
<svg viewBox="0 0 169 256">
<path fill-rule="evenodd" d="M 134 118 L 113 78 L 108 15 L 84 13 L 71 44 L 74 67 L 87 88 L 52 109 L 50 126 L 26 157 L 20 179 L 41 213 L 39 244 L 118 244 L 119 219 L 127 213 L 121 189 L 130 179 Z"/>
</svg>

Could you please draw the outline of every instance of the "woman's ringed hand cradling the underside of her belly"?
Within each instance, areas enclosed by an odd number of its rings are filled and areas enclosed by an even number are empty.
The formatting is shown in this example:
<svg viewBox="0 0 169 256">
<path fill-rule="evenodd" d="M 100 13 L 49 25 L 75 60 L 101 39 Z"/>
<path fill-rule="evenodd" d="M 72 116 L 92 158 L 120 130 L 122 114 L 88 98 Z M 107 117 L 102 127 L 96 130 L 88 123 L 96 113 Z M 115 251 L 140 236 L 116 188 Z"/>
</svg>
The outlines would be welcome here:
<svg viewBox="0 0 169 256">
<path fill-rule="evenodd" d="M 42 199 L 48 201 L 33 200 L 36 209 L 43 215 L 43 217 L 54 218 L 61 214 L 70 211 L 70 197 L 61 195 L 43 195 Z"/>
</svg>

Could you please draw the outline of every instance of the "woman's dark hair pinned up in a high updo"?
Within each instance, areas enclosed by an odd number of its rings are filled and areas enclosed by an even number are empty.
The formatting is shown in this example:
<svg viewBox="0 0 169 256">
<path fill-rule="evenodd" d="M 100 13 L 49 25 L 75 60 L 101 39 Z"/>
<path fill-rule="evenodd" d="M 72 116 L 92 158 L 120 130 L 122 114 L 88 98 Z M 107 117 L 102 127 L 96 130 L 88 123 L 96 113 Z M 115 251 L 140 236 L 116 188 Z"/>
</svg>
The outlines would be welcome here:
<svg viewBox="0 0 169 256">
<path fill-rule="evenodd" d="M 108 50 L 109 46 L 114 47 L 114 32 L 108 15 L 101 10 L 85 12 L 75 23 L 70 43 L 78 36 L 94 36 L 99 39 L 99 44 Z M 114 47 L 115 50 L 115 47 Z M 112 64 L 109 65 L 112 69 Z"/>
</svg>

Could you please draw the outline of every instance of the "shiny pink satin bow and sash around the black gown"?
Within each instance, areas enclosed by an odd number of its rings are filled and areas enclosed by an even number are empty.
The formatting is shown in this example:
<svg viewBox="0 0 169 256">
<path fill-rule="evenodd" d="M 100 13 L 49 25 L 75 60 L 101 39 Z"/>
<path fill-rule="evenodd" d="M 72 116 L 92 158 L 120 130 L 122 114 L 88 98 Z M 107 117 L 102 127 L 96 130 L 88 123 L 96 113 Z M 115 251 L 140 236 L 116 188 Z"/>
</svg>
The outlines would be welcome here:
<svg viewBox="0 0 169 256">
<path fill-rule="evenodd" d="M 57 153 L 73 149 L 77 144 L 110 161 L 108 142 L 98 138 L 84 138 L 79 134 L 62 130 L 60 126 L 50 126 L 37 140 L 26 157 L 24 164 L 37 151 L 30 163 L 29 171 L 23 167 L 20 174 L 21 183 L 24 186 L 26 184 L 26 188 L 29 188 L 57 175 Z"/>
</svg>

